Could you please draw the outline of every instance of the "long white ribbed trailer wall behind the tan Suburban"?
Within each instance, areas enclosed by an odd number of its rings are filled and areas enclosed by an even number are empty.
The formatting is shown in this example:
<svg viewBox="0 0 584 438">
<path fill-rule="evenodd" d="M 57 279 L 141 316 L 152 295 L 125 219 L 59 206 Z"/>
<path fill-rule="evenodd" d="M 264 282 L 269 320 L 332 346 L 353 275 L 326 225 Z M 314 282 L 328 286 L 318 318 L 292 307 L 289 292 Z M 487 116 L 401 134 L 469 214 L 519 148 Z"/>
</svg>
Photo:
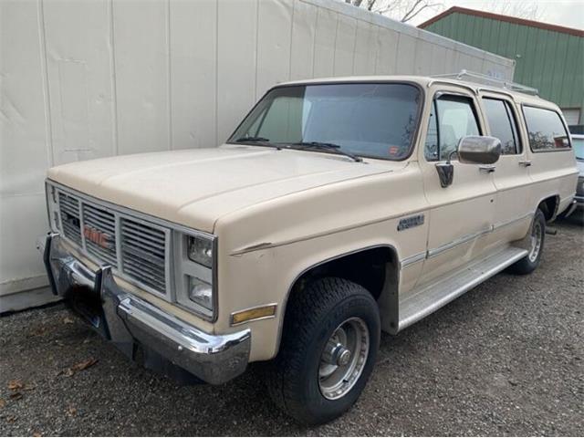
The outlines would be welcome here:
<svg viewBox="0 0 584 438">
<path fill-rule="evenodd" d="M 51 166 L 216 146 L 289 79 L 514 67 L 335 0 L 0 0 L 0 312 L 52 299 Z"/>
</svg>

